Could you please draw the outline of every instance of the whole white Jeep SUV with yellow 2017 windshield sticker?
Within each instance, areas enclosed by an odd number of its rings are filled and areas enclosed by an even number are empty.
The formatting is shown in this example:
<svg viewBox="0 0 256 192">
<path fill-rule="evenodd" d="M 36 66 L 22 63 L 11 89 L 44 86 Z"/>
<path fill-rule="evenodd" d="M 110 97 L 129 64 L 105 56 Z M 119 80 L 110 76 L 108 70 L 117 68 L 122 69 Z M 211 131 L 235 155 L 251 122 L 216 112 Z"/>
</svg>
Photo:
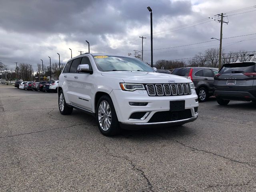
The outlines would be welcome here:
<svg viewBox="0 0 256 192">
<path fill-rule="evenodd" d="M 59 77 L 61 114 L 73 108 L 96 116 L 100 132 L 182 125 L 196 120 L 198 97 L 191 80 L 156 72 L 141 60 L 110 54 L 70 59 Z"/>
</svg>

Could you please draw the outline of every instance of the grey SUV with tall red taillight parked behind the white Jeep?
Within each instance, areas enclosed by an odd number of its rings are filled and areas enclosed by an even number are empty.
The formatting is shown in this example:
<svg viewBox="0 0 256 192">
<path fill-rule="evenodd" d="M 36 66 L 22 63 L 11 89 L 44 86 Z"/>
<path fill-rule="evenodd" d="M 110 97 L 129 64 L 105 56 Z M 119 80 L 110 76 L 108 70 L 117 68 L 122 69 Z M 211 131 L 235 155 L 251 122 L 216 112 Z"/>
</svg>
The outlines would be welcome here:
<svg viewBox="0 0 256 192">
<path fill-rule="evenodd" d="M 172 71 L 173 75 L 183 76 L 192 80 L 198 95 L 198 101 L 204 102 L 214 93 L 214 75 L 218 73 L 216 68 L 208 67 L 183 67 Z"/>
</svg>

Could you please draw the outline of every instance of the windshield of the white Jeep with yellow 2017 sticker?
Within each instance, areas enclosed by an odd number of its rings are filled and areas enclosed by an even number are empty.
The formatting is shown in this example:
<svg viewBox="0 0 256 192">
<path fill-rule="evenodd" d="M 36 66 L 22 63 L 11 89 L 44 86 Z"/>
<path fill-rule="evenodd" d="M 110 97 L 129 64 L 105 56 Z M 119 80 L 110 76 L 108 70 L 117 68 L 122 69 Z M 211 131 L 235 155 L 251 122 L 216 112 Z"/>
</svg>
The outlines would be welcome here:
<svg viewBox="0 0 256 192">
<path fill-rule="evenodd" d="M 93 56 L 100 71 L 149 71 L 155 72 L 146 63 L 136 58 L 123 56 Z"/>
</svg>

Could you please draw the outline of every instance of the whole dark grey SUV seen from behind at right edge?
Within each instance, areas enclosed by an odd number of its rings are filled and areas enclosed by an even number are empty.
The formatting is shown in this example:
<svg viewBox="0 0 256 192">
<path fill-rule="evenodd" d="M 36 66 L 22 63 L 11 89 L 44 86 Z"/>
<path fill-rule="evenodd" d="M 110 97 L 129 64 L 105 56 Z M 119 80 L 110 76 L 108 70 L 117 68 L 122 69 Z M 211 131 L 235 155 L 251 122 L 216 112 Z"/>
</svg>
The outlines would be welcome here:
<svg viewBox="0 0 256 192">
<path fill-rule="evenodd" d="M 256 101 L 256 62 L 224 64 L 214 76 L 214 88 L 220 105 L 230 100 Z"/>
</svg>

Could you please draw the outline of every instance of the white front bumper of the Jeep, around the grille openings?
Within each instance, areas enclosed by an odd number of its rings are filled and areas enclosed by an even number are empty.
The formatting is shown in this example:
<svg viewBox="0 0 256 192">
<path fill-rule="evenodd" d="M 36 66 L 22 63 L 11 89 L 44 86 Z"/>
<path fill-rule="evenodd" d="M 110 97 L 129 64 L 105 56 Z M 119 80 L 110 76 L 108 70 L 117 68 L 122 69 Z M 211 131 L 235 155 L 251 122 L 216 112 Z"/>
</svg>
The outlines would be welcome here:
<svg viewBox="0 0 256 192">
<path fill-rule="evenodd" d="M 118 121 L 126 125 L 149 126 L 157 124 L 184 124 L 196 120 L 198 113 L 194 108 L 198 107 L 196 91 L 192 94 L 182 96 L 148 96 L 146 90 L 136 90 L 133 92 L 123 90 L 112 90 L 110 96 L 113 100 Z M 156 112 L 170 111 L 170 101 L 185 100 L 185 110 L 191 110 L 190 118 L 172 121 L 149 122 Z M 130 106 L 129 102 L 147 102 L 146 106 Z M 135 112 L 147 112 L 141 119 L 130 118 Z"/>
</svg>

